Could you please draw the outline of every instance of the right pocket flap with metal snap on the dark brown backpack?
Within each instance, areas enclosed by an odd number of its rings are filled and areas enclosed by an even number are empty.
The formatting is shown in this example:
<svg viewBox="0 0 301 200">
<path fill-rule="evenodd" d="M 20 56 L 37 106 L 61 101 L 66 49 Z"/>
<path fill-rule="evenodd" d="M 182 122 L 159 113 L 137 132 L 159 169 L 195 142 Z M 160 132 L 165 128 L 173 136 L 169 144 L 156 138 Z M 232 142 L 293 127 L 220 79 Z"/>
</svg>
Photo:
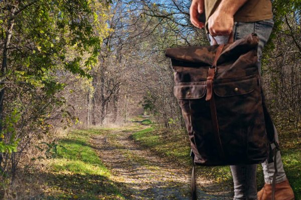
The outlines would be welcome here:
<svg viewBox="0 0 301 200">
<path fill-rule="evenodd" d="M 221 97 L 247 94 L 254 91 L 257 86 L 257 76 L 248 79 L 233 80 L 229 82 L 215 82 L 213 90 L 216 95 Z"/>
</svg>

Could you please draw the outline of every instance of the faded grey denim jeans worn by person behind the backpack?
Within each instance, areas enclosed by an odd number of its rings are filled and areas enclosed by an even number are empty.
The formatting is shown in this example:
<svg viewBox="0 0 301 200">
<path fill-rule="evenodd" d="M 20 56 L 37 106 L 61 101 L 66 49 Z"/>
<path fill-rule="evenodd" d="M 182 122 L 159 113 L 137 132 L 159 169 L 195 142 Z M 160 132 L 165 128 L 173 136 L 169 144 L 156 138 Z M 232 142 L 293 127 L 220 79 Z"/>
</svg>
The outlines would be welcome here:
<svg viewBox="0 0 301 200">
<path fill-rule="evenodd" d="M 247 34 L 255 32 L 258 35 L 259 43 L 258 43 L 258 69 L 261 74 L 261 57 L 262 57 L 262 49 L 267 42 L 269 35 L 272 31 L 273 20 L 260 20 L 255 22 L 235 22 L 233 27 L 233 36 L 234 40 L 240 39 Z M 215 36 L 214 37 L 218 44 L 226 43 L 228 41 L 228 36 Z M 208 35 L 208 39 L 213 44 L 212 36 Z M 278 133 L 275 129 L 275 137 L 276 141 L 278 141 Z M 274 145 L 272 144 L 272 148 Z M 277 151 L 277 176 L 276 183 L 282 182 L 286 179 L 286 175 L 283 169 L 283 163 L 281 161 L 280 152 Z M 264 173 L 264 181 L 265 183 L 271 184 L 272 176 L 274 173 L 274 163 L 268 163 L 265 160 L 262 163 L 263 173 Z M 231 172 L 233 176 L 234 182 L 234 200 L 236 199 L 257 199 L 257 186 L 256 186 L 256 168 L 257 164 L 249 164 L 249 165 L 231 165 Z"/>
</svg>

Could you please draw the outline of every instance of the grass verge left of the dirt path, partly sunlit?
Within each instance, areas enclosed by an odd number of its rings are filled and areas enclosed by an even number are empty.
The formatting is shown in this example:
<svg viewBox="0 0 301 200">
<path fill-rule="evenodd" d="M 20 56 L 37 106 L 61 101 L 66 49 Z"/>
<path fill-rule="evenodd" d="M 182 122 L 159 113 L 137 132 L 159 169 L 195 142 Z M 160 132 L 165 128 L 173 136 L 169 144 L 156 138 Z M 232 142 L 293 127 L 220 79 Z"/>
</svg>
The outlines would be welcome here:
<svg viewBox="0 0 301 200">
<path fill-rule="evenodd" d="M 46 199 L 124 199 L 89 138 L 105 130 L 74 130 L 59 141 L 49 162 Z"/>
</svg>

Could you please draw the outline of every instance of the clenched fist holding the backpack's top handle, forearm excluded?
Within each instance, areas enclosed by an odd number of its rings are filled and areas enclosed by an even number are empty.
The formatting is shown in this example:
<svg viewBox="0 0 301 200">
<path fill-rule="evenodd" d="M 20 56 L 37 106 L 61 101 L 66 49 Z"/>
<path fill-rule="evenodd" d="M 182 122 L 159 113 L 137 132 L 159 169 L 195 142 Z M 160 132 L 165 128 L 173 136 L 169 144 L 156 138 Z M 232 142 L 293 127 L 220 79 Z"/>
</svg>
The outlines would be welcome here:
<svg viewBox="0 0 301 200">
<path fill-rule="evenodd" d="M 229 35 L 233 25 L 233 14 L 220 9 L 217 9 L 208 19 L 208 29 L 212 36 Z"/>
</svg>

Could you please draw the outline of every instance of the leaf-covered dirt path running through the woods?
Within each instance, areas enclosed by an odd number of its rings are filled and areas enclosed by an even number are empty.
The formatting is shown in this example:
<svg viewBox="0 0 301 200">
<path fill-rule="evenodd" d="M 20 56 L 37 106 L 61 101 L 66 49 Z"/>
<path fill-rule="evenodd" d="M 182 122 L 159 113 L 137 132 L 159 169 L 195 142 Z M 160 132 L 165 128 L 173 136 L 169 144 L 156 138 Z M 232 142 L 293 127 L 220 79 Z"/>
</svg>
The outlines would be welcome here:
<svg viewBox="0 0 301 200">
<path fill-rule="evenodd" d="M 190 171 L 142 148 L 130 135 L 116 130 L 91 138 L 122 194 L 127 199 L 190 199 Z M 199 189 L 199 199 L 231 199 L 208 180 L 198 177 L 198 185 L 207 185 L 207 192 Z"/>
</svg>

